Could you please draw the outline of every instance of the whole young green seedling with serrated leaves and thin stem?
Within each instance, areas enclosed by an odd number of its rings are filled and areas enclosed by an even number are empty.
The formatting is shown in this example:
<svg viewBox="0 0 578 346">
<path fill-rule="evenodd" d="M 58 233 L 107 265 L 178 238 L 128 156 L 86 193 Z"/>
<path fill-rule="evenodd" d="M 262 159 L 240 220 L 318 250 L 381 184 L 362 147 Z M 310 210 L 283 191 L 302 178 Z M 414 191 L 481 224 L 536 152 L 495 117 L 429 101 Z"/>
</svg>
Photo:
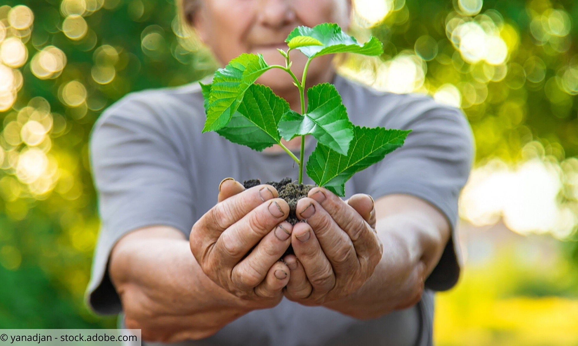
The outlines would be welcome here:
<svg viewBox="0 0 578 346">
<path fill-rule="evenodd" d="M 307 160 L 307 176 L 320 187 L 339 196 L 354 173 L 381 161 L 403 145 L 410 131 L 355 126 L 333 84 L 321 83 L 307 89 L 305 81 L 310 62 L 321 55 L 357 53 L 381 55 L 381 42 L 370 37 L 360 44 L 339 25 L 324 23 L 313 28 L 297 27 L 287 39 L 288 50 L 279 49 L 286 65 L 268 65 L 261 54 L 243 53 L 214 73 L 211 84 L 202 84 L 207 120 L 202 132 L 216 131 L 231 142 L 262 151 L 278 144 L 297 162 L 299 184 L 303 181 L 305 136 L 313 135 L 317 146 Z M 289 53 L 297 49 L 307 59 L 301 80 L 291 70 Z M 301 96 L 301 114 L 266 85 L 255 81 L 266 71 L 277 68 L 291 75 Z M 281 138 L 301 136 L 301 155 L 294 155 Z"/>
</svg>

